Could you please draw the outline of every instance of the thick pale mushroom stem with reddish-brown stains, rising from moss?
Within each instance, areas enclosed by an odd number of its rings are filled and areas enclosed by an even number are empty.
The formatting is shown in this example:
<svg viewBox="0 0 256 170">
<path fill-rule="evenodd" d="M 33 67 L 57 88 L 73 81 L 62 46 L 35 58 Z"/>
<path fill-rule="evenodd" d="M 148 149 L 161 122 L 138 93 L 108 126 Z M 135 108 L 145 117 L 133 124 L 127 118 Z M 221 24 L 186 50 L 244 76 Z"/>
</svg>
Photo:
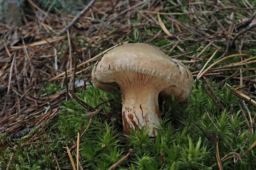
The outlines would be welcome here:
<svg viewBox="0 0 256 170">
<path fill-rule="evenodd" d="M 130 135 L 130 129 L 150 129 L 149 136 L 156 135 L 161 116 L 158 105 L 159 91 L 149 86 L 126 88 L 123 91 L 123 132 Z"/>
</svg>

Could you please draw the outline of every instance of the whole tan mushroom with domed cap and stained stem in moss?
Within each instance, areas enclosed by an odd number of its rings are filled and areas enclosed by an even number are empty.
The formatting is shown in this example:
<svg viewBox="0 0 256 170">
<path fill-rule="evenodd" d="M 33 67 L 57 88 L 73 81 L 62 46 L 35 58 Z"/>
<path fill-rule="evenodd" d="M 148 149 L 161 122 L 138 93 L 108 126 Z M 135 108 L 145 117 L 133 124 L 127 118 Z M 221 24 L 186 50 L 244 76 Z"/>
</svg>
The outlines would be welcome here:
<svg viewBox="0 0 256 170">
<path fill-rule="evenodd" d="M 186 99 L 193 86 L 191 72 L 183 63 L 158 48 L 144 43 L 123 44 L 107 52 L 92 69 L 93 86 L 114 91 L 116 82 L 122 93 L 123 132 L 150 129 L 156 135 L 160 125 L 158 96 L 174 95 Z"/>
</svg>

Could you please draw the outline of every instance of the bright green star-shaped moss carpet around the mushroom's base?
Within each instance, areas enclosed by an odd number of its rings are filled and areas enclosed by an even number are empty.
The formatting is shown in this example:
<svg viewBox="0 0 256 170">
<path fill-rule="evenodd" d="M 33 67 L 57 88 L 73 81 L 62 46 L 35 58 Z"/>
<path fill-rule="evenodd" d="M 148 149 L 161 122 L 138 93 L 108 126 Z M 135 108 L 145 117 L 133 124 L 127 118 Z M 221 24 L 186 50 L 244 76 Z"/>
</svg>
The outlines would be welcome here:
<svg viewBox="0 0 256 170">
<path fill-rule="evenodd" d="M 214 82 L 212 86 L 213 84 Z M 119 109 L 112 108 L 120 102 L 119 97 L 89 86 L 86 91 L 76 93 L 76 96 L 90 107 L 97 107 L 96 109 L 100 111 L 91 116 L 90 109 L 82 107 L 75 100 L 64 102 L 59 118 L 48 124 L 47 129 L 51 132 L 49 137 L 52 140 L 45 137 L 34 144 L 27 145 L 22 142 L 28 137 L 25 136 L 16 142 L 18 150 L 13 158 L 13 165 L 15 165 L 13 169 L 38 169 L 39 167 L 51 169 L 55 166 L 53 155 L 60 160 L 59 164 L 71 165 L 66 149 L 63 147 L 71 147 L 77 140 L 77 133 L 82 134 L 90 121 L 92 123 L 81 136 L 80 141 L 79 152 L 81 165 L 84 168 L 108 169 L 127 154 L 129 149 L 132 149 L 130 156 L 117 165 L 119 169 L 215 169 L 217 167 L 216 144 L 219 148 L 218 154 L 223 158 L 231 153 L 244 154 L 256 140 L 256 135 L 251 134 L 245 148 L 241 150 L 249 129 L 238 106 L 240 100 L 226 93 L 226 88 L 226 86 L 219 86 L 215 91 L 223 103 L 233 104 L 232 117 L 230 105 L 225 106 L 221 111 L 201 85 L 194 86 L 189 98 L 190 102 L 187 104 L 180 104 L 171 99 L 163 103 L 164 112 L 173 112 L 175 108 L 180 107 L 174 113 L 186 116 L 178 116 L 178 120 L 173 120 L 171 119 L 173 114 L 163 115 L 156 137 L 149 137 L 149 130 L 144 128 L 139 131 L 132 129 L 131 135 L 124 135 L 120 128 L 121 122 L 112 119 L 113 115 L 121 114 L 121 103 L 116 107 Z M 107 102 L 111 98 L 114 101 Z M 203 107 L 205 109 L 202 109 Z M 120 120 L 120 117 L 116 119 Z M 218 143 L 215 139 L 218 139 Z M 36 149 L 38 144 L 41 145 L 41 149 Z M 0 152 L 2 160 L 10 157 L 14 151 L 12 147 L 14 145 Z M 234 166 L 235 170 L 254 169 L 256 161 L 252 158 L 255 152 L 255 148 L 251 149 L 244 155 L 243 162 L 238 161 L 235 166 L 232 158 L 225 160 L 222 166 L 223 168 Z M 73 151 L 71 153 L 74 154 Z M 32 157 L 40 159 L 36 161 Z M 64 159 L 60 159 L 62 157 Z M 73 157 L 75 158 L 74 155 Z M 2 167 L 6 167 L 7 162 L 1 162 Z"/>
</svg>

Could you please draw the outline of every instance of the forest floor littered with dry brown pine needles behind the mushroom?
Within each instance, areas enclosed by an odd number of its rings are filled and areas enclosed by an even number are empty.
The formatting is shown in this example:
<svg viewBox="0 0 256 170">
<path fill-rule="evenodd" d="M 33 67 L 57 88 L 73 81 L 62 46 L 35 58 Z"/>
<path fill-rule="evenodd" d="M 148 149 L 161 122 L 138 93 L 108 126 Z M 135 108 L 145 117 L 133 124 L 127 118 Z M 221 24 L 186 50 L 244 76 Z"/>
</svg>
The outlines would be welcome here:
<svg viewBox="0 0 256 170">
<path fill-rule="evenodd" d="M 249 136 L 255 131 L 251 128 L 256 119 L 255 2 L 96 1 L 77 20 L 35 4 L 31 7 L 35 13 L 24 16 L 24 26 L 0 23 L 2 157 L 17 141 L 24 146 L 49 135 L 47 124 L 58 119 L 62 102 L 71 100 L 76 92 L 72 87 L 86 90 L 95 62 L 128 42 L 152 44 L 179 59 L 209 100 L 221 110 L 240 106 Z M 225 86 L 238 102 L 225 105 L 215 95 L 218 86 Z M 255 145 L 248 146 L 248 152 Z M 15 154 L 14 150 L 8 153 Z M 221 161 L 216 162 L 221 169 Z M 0 163 L 0 168 L 12 164 L 12 155 Z"/>
</svg>

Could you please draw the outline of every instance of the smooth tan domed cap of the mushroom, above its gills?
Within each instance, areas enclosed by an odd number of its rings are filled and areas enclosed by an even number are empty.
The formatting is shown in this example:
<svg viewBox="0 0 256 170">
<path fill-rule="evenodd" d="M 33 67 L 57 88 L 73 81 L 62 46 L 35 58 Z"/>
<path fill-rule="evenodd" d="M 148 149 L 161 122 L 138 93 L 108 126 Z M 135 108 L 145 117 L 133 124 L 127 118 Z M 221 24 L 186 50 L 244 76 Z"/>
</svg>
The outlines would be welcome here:
<svg viewBox="0 0 256 170">
<path fill-rule="evenodd" d="M 104 91 L 112 91 L 114 87 L 109 83 L 116 82 L 116 74 L 125 72 L 138 72 L 161 79 L 164 84 L 161 93 L 174 94 L 178 99 L 190 95 L 194 82 L 191 72 L 180 61 L 152 45 L 128 43 L 111 49 L 97 61 L 92 70 L 93 85 Z"/>
</svg>

